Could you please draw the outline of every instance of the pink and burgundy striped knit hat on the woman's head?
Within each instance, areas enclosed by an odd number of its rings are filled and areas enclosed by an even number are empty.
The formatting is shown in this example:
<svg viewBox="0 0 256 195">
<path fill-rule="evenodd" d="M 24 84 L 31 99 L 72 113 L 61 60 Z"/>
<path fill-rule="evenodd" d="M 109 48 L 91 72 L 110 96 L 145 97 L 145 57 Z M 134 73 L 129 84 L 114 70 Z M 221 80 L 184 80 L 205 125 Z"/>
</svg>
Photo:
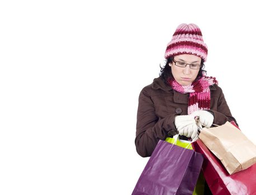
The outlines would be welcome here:
<svg viewBox="0 0 256 195">
<path fill-rule="evenodd" d="M 207 45 L 203 42 L 202 32 L 195 24 L 181 24 L 167 45 L 164 57 L 177 56 L 183 53 L 193 54 L 207 59 Z"/>
</svg>

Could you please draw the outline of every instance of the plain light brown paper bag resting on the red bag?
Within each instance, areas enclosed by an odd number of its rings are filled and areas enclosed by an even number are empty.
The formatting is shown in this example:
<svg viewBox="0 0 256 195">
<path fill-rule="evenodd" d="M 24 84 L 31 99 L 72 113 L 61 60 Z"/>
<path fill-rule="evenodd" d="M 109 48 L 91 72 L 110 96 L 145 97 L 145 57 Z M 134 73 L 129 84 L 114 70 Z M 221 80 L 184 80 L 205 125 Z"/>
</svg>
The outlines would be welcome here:
<svg viewBox="0 0 256 195">
<path fill-rule="evenodd" d="M 217 127 L 203 128 L 199 138 L 221 160 L 229 174 L 256 163 L 256 145 L 228 121 Z"/>
</svg>

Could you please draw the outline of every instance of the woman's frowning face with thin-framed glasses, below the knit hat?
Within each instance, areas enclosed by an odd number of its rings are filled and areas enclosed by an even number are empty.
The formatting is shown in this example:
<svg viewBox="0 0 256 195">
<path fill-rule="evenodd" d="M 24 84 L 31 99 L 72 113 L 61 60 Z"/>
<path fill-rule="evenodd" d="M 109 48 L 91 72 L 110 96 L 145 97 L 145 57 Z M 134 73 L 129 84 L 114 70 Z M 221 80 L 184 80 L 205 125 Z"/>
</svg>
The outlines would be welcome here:
<svg viewBox="0 0 256 195">
<path fill-rule="evenodd" d="M 200 65 L 201 57 L 191 54 L 182 54 L 174 56 L 174 61 L 184 62 L 193 65 Z M 192 82 L 195 81 L 200 69 L 191 69 L 189 65 L 187 65 L 186 67 L 179 67 L 175 65 L 174 61 L 169 63 L 169 66 L 172 67 L 172 75 L 174 79 L 180 85 L 187 86 L 192 84 Z"/>
</svg>

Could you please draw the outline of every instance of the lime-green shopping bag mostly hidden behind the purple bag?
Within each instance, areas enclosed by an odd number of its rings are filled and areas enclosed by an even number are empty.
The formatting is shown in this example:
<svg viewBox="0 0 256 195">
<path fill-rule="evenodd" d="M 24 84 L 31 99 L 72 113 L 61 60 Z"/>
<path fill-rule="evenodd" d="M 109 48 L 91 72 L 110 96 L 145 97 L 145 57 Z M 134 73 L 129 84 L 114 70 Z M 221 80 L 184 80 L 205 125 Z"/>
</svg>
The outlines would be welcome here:
<svg viewBox="0 0 256 195">
<path fill-rule="evenodd" d="M 192 150 L 191 142 L 179 139 L 178 135 L 174 135 L 173 138 L 166 138 L 165 142 L 178 145 L 179 147 Z M 202 171 L 197 179 L 196 187 L 193 195 L 203 195 L 205 193 L 205 178 L 203 177 Z"/>
</svg>

